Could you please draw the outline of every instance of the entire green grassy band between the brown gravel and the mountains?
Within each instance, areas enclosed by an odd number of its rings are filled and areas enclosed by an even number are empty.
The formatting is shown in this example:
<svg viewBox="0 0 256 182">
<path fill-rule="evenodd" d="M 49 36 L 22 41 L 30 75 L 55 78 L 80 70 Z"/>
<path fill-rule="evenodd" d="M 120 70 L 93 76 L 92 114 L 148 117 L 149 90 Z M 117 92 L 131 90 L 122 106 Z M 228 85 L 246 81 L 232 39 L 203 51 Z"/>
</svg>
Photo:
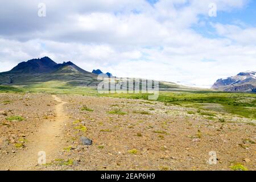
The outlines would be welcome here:
<svg viewBox="0 0 256 182">
<path fill-rule="evenodd" d="M 79 94 L 84 96 L 115 97 L 147 100 L 148 94 L 99 94 L 94 88 L 72 86 L 65 82 L 49 81 L 26 86 L 0 86 L 0 93 Z M 158 100 L 165 104 L 212 110 L 256 119 L 256 94 L 211 91 L 160 92 Z"/>
</svg>

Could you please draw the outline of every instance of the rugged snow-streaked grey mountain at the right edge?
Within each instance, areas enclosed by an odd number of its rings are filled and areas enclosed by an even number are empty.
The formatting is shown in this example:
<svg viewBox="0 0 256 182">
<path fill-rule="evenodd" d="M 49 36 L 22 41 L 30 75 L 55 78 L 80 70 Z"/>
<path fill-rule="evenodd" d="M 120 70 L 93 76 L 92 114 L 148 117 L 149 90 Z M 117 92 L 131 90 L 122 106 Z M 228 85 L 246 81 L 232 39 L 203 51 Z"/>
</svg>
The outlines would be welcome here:
<svg viewBox="0 0 256 182">
<path fill-rule="evenodd" d="M 212 89 L 225 92 L 256 93 L 256 71 L 241 72 L 236 76 L 218 79 Z"/>
</svg>

